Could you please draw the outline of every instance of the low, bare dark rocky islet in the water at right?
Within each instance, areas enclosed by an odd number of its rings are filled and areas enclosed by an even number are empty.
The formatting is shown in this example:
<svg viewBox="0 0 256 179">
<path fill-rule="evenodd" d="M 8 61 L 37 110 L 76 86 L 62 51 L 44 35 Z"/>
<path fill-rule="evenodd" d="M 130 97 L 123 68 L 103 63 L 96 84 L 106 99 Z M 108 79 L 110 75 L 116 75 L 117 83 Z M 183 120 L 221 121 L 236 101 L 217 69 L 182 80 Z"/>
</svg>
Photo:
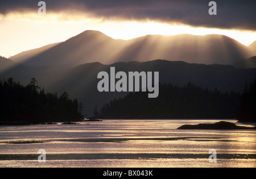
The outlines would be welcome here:
<svg viewBox="0 0 256 179">
<path fill-rule="evenodd" d="M 237 126 L 234 123 L 230 122 L 217 122 L 213 124 L 196 124 L 196 125 L 183 125 L 177 129 L 181 130 L 256 130 L 256 127 L 245 127 L 245 126 Z"/>
</svg>

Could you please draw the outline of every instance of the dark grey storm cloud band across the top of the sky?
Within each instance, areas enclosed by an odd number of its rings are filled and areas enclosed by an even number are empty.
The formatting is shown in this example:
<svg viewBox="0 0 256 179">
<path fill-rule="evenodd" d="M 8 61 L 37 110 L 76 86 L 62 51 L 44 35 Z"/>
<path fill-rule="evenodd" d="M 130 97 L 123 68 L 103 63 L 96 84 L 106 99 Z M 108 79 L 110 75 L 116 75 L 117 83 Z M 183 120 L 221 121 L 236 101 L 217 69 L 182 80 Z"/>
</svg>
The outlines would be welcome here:
<svg viewBox="0 0 256 179">
<path fill-rule="evenodd" d="M 1 0 L 0 13 L 37 10 L 39 0 Z M 119 19 L 152 19 L 191 26 L 256 30 L 255 0 L 218 0 L 217 15 L 208 14 L 210 0 L 45 0 L 47 11 L 77 10 Z"/>
</svg>

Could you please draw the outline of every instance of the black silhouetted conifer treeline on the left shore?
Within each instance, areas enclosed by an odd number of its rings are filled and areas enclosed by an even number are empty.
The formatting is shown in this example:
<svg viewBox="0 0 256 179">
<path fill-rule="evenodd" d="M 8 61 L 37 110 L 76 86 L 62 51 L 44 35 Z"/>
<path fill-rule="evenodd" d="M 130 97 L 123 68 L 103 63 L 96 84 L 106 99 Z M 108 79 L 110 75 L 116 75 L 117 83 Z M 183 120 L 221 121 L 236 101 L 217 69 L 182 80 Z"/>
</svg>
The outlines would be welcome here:
<svg viewBox="0 0 256 179">
<path fill-rule="evenodd" d="M 1 122 L 58 122 L 82 119 L 82 104 L 77 99 L 69 99 L 65 92 L 46 93 L 40 89 L 35 78 L 22 86 L 13 78 L 0 81 L 0 121 Z"/>
</svg>

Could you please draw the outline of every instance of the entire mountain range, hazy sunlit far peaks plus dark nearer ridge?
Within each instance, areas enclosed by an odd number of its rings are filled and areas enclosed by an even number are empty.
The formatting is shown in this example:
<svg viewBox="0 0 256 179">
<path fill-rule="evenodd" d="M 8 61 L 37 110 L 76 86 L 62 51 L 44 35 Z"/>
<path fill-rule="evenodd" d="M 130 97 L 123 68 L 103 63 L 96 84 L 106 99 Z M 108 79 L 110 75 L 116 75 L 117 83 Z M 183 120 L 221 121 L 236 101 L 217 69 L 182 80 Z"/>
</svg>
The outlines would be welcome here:
<svg viewBox="0 0 256 179">
<path fill-rule="evenodd" d="M 246 47 L 223 35 L 147 35 L 115 40 L 98 31 L 85 31 L 10 59 L 0 57 L 0 78 L 14 77 L 23 85 L 36 78 L 50 93 L 67 91 L 83 103 L 84 113 L 90 116 L 95 106 L 100 109 L 127 95 L 97 90 L 97 74 L 110 73 L 112 66 L 116 72 L 159 72 L 161 84 L 192 82 L 203 89 L 241 93 L 246 82 L 256 77 L 253 48 L 253 44 Z"/>
</svg>

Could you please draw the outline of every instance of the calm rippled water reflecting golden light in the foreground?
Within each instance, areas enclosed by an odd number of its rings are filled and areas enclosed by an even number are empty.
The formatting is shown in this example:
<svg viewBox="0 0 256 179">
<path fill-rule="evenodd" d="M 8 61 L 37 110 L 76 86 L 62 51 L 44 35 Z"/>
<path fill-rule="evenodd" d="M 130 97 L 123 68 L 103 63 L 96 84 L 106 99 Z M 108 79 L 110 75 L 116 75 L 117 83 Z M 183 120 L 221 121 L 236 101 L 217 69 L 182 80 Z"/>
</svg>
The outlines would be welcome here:
<svg viewBox="0 0 256 179">
<path fill-rule="evenodd" d="M 256 167 L 256 130 L 176 129 L 218 121 L 104 120 L 68 126 L 1 126 L 0 167 Z M 38 163 L 39 149 L 46 151 L 45 164 Z M 209 149 L 217 151 L 217 163 L 209 163 Z"/>
</svg>

